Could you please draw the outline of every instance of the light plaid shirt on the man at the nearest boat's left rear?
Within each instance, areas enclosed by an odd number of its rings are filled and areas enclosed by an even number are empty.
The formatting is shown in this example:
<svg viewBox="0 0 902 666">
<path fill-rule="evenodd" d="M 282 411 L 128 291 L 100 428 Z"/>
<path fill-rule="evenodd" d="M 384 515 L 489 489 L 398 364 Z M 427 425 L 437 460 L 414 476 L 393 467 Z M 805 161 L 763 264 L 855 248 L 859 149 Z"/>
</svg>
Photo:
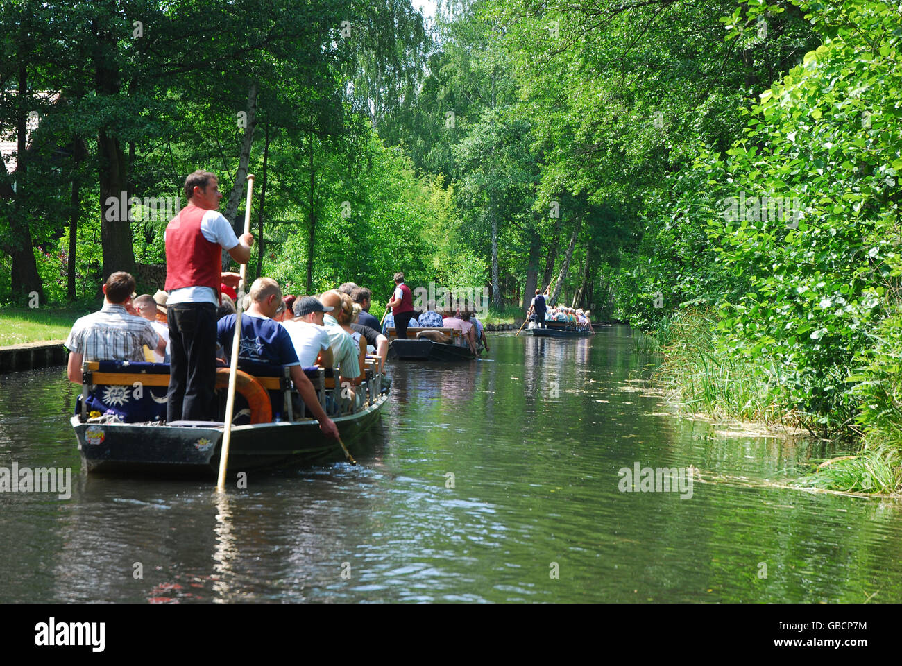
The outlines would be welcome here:
<svg viewBox="0 0 902 666">
<path fill-rule="evenodd" d="M 128 314 L 122 305 L 104 303 L 75 322 L 66 347 L 86 361 L 143 361 L 143 345 L 154 349 L 159 341 L 150 321 Z"/>
</svg>

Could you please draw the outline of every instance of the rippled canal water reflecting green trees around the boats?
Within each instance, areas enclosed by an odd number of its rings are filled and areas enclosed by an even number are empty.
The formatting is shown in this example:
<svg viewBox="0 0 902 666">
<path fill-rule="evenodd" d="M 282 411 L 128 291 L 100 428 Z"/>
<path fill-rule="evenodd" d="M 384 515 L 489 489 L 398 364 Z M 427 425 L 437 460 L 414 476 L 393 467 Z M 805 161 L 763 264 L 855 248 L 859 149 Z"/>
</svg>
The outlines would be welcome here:
<svg viewBox="0 0 902 666">
<path fill-rule="evenodd" d="M 667 415 L 630 381 L 625 327 L 490 342 L 471 365 L 391 365 L 361 466 L 219 500 L 83 474 L 64 369 L 0 375 L 0 467 L 73 467 L 75 486 L 0 494 L 0 602 L 902 601 L 900 504 L 761 485 L 823 450 Z M 621 492 L 636 463 L 706 482 Z"/>
</svg>

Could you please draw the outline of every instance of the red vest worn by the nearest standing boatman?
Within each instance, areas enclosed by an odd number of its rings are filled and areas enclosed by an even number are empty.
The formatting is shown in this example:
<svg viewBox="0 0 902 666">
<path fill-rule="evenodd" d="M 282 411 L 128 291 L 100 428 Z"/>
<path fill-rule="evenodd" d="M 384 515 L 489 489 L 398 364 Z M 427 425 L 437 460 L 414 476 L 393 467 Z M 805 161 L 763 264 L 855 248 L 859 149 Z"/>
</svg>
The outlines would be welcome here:
<svg viewBox="0 0 902 666">
<path fill-rule="evenodd" d="M 205 208 L 189 204 L 166 227 L 166 291 L 181 287 L 209 287 L 222 283 L 222 248 L 200 232 Z"/>
</svg>

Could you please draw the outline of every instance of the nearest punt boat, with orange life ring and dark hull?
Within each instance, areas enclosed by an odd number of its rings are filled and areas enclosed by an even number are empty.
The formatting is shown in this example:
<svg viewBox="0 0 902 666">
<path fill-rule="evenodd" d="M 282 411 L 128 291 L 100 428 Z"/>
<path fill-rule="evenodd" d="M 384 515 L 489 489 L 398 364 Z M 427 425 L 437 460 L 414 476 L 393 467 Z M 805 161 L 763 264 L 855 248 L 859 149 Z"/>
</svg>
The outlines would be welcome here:
<svg viewBox="0 0 902 666">
<path fill-rule="evenodd" d="M 349 405 L 343 410 L 334 408 L 342 403 L 341 389 L 336 386 L 335 379 L 327 377 L 323 368 L 305 368 L 321 404 L 328 407 L 329 418 L 335 421 L 345 444 L 352 448 L 354 441 L 379 421 L 382 406 L 388 399 L 387 390 L 381 387 L 378 359 L 368 358 L 367 365 L 367 382 L 358 387 L 365 394 L 363 404 L 359 407 Z M 87 410 L 99 410 L 104 406 L 104 398 L 106 402 L 123 407 L 124 392 L 134 392 L 136 383 L 140 383 L 138 385 L 145 393 L 143 399 L 151 399 L 151 402 L 144 400 L 143 407 L 147 409 L 143 413 L 142 406 L 137 406 L 136 412 L 141 418 L 147 418 L 149 409 L 155 411 L 150 418 L 160 415 L 164 418 L 166 405 L 165 401 L 161 402 L 161 396 L 165 396 L 165 387 L 169 384 L 168 365 L 93 362 L 86 363 L 85 370 L 82 395 L 71 424 L 78 439 L 82 463 L 88 472 L 216 478 L 225 431 L 220 421 L 164 424 L 161 421 L 103 422 L 103 417 L 88 418 Z M 345 459 L 336 440 L 327 439 L 319 430 L 319 421 L 305 418 L 302 403 L 296 418 L 295 405 L 299 402 L 291 397 L 294 389 L 288 368 L 278 368 L 276 372 L 279 371 L 281 376 L 251 375 L 253 381 L 270 392 L 273 418 L 278 421 L 232 426 L 228 459 L 230 475 L 264 467 L 308 466 Z M 225 376 L 224 384 L 227 384 L 227 372 L 226 368 L 221 368 L 221 375 L 217 375 L 217 379 Z M 217 386 L 220 384 L 217 382 Z M 115 396 L 115 400 L 111 401 L 111 396 Z M 235 411 L 240 413 L 238 398 L 236 396 Z M 277 401 L 281 401 L 281 405 Z"/>
</svg>

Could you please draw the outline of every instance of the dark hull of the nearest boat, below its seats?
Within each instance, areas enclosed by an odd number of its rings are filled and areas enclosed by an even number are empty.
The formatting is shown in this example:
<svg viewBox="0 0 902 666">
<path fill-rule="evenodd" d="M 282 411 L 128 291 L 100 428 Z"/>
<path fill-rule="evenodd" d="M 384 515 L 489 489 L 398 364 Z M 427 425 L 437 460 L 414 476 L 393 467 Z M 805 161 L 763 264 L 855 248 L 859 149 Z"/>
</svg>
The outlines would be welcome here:
<svg viewBox="0 0 902 666">
<path fill-rule="evenodd" d="M 379 420 L 386 396 L 354 414 L 333 419 L 345 444 L 351 445 Z M 81 423 L 71 419 L 78 451 L 88 472 L 204 476 L 219 470 L 223 428 L 154 426 L 138 423 Z M 319 422 L 282 421 L 232 428 L 228 472 L 264 467 L 325 464 L 345 459 Z"/>
</svg>

